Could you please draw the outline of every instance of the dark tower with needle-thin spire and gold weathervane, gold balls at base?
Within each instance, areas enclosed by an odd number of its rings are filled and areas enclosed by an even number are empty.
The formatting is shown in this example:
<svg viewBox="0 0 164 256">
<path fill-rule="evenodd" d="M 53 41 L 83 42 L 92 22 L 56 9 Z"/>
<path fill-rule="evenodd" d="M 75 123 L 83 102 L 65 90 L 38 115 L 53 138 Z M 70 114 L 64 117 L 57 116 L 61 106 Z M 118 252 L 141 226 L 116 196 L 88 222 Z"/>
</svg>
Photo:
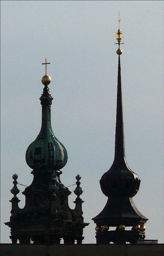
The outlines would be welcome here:
<svg viewBox="0 0 164 256">
<path fill-rule="evenodd" d="M 116 44 L 119 45 L 118 54 L 118 81 L 117 81 L 117 108 L 116 108 L 116 129 L 115 129 L 115 153 L 114 161 L 110 169 L 100 179 L 100 187 L 105 196 L 108 197 L 104 209 L 92 220 L 96 223 L 97 244 L 137 243 L 145 238 L 144 224 L 148 220 L 136 208 L 132 197 L 139 190 L 140 179 L 135 172 L 129 168 L 125 159 L 122 92 L 121 92 L 121 64 L 120 48 L 122 36 L 119 29 L 114 33 Z M 109 227 L 116 227 L 109 230 Z M 132 227 L 126 230 L 126 227 Z"/>
</svg>

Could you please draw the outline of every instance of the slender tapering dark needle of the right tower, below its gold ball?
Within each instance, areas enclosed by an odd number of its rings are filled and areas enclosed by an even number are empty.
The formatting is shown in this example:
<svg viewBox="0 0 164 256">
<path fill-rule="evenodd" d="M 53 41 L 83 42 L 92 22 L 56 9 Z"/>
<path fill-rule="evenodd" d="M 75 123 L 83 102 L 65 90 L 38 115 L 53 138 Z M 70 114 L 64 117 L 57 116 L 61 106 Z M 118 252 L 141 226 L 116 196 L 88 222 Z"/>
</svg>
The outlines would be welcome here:
<svg viewBox="0 0 164 256">
<path fill-rule="evenodd" d="M 114 162 L 118 162 L 118 161 L 119 162 L 125 161 L 120 55 L 118 58 L 117 109 L 116 109 L 115 153 L 114 153 Z"/>
</svg>

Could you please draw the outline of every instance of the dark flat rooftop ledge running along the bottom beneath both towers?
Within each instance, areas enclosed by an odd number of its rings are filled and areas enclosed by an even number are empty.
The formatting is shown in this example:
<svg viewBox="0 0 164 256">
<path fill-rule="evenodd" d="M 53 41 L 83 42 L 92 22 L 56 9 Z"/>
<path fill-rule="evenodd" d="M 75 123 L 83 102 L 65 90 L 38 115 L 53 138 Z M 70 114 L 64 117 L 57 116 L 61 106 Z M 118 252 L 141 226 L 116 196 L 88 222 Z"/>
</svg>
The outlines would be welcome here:
<svg viewBox="0 0 164 256">
<path fill-rule="evenodd" d="M 157 240 L 147 240 L 157 241 Z M 1 256 L 161 256 L 164 244 L 1 244 Z"/>
</svg>

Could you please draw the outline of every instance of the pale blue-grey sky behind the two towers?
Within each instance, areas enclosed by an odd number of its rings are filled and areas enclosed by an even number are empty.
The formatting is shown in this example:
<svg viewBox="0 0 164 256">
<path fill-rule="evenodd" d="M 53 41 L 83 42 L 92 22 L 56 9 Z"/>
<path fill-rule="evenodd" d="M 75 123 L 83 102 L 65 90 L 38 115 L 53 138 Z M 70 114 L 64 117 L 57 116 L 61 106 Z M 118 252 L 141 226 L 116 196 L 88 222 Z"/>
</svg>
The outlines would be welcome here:
<svg viewBox="0 0 164 256">
<path fill-rule="evenodd" d="M 52 129 L 68 153 L 61 181 L 82 176 L 83 243 L 96 242 L 91 218 L 107 201 L 99 180 L 114 157 L 119 11 L 125 153 L 141 179 L 133 200 L 149 218 L 146 239 L 163 243 L 163 1 L 1 1 L 1 243 L 11 242 L 12 174 L 33 179 L 25 152 L 41 127 L 45 58 Z"/>
</svg>

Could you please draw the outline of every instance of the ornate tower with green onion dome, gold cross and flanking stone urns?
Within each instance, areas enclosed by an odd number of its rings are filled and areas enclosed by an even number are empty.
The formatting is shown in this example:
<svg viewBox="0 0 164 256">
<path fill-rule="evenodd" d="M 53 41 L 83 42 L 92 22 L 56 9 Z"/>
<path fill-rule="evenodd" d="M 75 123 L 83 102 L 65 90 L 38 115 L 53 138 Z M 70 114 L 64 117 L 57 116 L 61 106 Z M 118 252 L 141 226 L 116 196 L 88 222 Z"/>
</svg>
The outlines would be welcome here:
<svg viewBox="0 0 164 256">
<path fill-rule="evenodd" d="M 44 85 L 43 94 L 40 97 L 42 105 L 42 125 L 36 139 L 29 145 L 26 151 L 27 165 L 33 169 L 34 176 L 30 186 L 22 192 L 25 195 L 25 206 L 20 209 L 20 200 L 17 194 L 18 175 L 14 174 L 13 194 L 10 221 L 5 225 L 11 228 L 12 244 L 19 240 L 20 244 L 60 244 L 61 238 L 64 244 L 81 244 L 83 240 L 83 228 L 89 223 L 83 222 L 82 217 L 82 188 L 80 187 L 80 175 L 76 176 L 77 196 L 74 210 L 69 208 L 69 189 L 60 181 L 61 169 L 66 165 L 67 152 L 64 145 L 56 138 L 51 127 L 51 97 L 48 85 L 51 77 L 47 75 L 47 60 L 45 60 L 46 74 L 42 77 Z"/>
</svg>

